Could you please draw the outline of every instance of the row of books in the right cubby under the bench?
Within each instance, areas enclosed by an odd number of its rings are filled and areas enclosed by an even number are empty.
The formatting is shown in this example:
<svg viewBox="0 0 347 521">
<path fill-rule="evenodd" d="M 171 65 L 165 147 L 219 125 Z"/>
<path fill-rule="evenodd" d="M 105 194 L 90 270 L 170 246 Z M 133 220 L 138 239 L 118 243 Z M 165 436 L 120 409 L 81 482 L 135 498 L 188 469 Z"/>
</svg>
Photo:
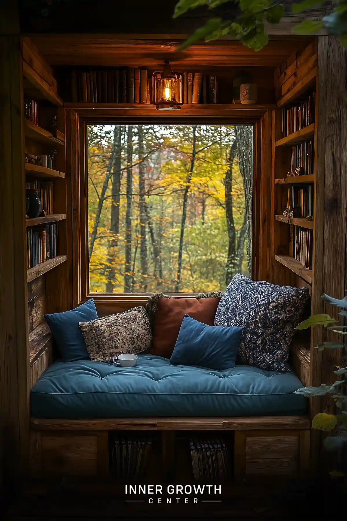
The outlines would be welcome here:
<svg viewBox="0 0 347 521">
<path fill-rule="evenodd" d="M 225 479 L 230 468 L 228 449 L 221 438 L 190 441 L 191 464 L 195 479 Z"/>
</svg>

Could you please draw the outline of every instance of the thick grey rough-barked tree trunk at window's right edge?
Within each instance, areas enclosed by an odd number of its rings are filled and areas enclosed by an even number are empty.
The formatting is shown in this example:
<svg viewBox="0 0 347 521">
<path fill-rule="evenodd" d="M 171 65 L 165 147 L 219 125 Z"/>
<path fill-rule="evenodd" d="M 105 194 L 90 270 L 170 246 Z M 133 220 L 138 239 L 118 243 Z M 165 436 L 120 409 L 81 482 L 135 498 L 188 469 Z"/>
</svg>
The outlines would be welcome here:
<svg viewBox="0 0 347 521">
<path fill-rule="evenodd" d="M 253 128 L 250 125 L 235 127 L 237 157 L 245 188 L 247 266 L 251 275 L 252 266 L 252 185 L 253 185 Z"/>
</svg>

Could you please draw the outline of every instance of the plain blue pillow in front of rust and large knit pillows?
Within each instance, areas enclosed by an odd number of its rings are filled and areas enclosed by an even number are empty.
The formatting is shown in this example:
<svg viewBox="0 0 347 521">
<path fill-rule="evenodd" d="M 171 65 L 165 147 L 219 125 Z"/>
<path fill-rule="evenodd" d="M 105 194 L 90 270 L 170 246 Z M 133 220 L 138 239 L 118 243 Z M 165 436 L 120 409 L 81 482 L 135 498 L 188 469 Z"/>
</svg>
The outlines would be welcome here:
<svg viewBox="0 0 347 521">
<path fill-rule="evenodd" d="M 235 367 L 241 331 L 241 327 L 208 326 L 185 315 L 170 363 L 217 371 Z"/>
</svg>

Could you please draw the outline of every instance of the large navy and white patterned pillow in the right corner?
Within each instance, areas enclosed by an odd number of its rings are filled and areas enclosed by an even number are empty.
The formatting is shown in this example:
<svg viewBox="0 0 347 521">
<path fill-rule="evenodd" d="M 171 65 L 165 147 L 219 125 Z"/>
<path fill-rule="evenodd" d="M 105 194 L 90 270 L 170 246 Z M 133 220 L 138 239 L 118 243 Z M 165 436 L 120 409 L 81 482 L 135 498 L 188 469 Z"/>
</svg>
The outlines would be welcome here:
<svg viewBox="0 0 347 521">
<path fill-rule="evenodd" d="M 307 288 L 237 274 L 217 307 L 214 325 L 243 328 L 237 363 L 286 372 L 289 344 L 309 298 Z"/>
</svg>

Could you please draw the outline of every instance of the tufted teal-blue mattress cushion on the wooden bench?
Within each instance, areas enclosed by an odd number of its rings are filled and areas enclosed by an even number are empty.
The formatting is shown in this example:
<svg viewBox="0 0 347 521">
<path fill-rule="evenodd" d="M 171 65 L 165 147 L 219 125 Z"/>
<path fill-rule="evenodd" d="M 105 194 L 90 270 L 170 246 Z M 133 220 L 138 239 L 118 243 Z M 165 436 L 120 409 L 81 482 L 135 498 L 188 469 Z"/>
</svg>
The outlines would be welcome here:
<svg viewBox="0 0 347 521">
<path fill-rule="evenodd" d="M 272 416 L 305 414 L 307 399 L 293 373 L 237 365 L 215 371 L 171 365 L 142 354 L 136 367 L 56 362 L 31 391 L 35 418 Z"/>
</svg>

